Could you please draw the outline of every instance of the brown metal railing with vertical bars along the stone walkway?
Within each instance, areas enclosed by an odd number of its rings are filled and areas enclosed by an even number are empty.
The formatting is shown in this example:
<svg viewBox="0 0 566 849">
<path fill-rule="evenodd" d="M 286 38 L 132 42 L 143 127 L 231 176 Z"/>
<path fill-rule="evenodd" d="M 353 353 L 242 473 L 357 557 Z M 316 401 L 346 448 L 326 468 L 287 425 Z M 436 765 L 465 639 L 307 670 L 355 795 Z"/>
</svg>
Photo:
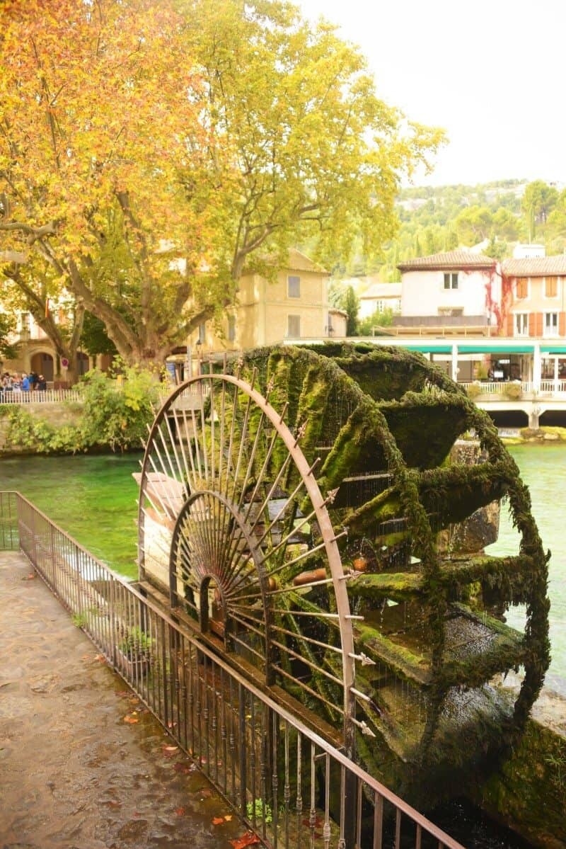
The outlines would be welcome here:
<svg viewBox="0 0 566 849">
<path fill-rule="evenodd" d="M 0 533 L 266 846 L 462 849 L 19 493 Z M 17 526 L 16 526 L 17 521 Z M 289 698 L 287 698 L 289 705 Z"/>
</svg>

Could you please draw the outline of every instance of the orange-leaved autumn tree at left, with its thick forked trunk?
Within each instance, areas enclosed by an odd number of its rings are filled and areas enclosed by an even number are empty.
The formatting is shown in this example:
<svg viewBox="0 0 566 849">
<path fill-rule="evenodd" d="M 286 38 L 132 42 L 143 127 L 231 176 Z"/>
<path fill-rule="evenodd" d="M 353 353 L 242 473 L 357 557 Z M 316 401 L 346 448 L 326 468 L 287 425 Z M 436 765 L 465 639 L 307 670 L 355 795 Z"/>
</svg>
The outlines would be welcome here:
<svg viewBox="0 0 566 849">
<path fill-rule="evenodd" d="M 182 19 L 167 0 L 0 14 L 3 274 L 71 363 L 85 310 L 128 362 L 160 362 L 232 300 L 215 203 L 229 168 L 202 178 L 221 149 Z M 48 300 L 65 295 L 62 338 Z"/>
</svg>

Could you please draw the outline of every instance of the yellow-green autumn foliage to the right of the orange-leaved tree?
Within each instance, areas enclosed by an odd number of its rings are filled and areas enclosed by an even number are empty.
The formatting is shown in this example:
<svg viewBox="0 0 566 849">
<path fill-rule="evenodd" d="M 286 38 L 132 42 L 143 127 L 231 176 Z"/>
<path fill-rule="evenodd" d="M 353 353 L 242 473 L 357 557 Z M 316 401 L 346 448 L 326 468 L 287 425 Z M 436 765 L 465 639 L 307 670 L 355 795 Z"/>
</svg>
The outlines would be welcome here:
<svg viewBox="0 0 566 849">
<path fill-rule="evenodd" d="M 367 258 L 395 232 L 395 196 L 442 133 L 384 104 L 356 48 L 333 25 L 279 0 L 179 0 L 203 68 L 216 132 L 238 168 L 227 194 L 231 268 L 265 271 L 289 246 L 328 267 L 360 234 Z M 267 270 L 269 270 L 267 268 Z"/>
</svg>

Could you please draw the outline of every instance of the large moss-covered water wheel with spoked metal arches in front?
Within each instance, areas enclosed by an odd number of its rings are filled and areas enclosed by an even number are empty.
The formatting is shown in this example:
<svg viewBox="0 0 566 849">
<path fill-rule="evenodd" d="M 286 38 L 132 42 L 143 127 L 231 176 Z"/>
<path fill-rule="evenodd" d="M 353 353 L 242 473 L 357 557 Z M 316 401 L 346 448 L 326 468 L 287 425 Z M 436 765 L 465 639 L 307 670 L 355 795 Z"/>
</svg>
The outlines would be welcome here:
<svg viewBox="0 0 566 849">
<path fill-rule="evenodd" d="M 482 462 L 462 463 L 451 451 L 471 431 Z M 517 553 L 455 554 L 455 529 L 503 498 Z M 204 363 L 150 434 L 140 565 L 227 657 L 349 749 L 355 736 L 368 771 L 419 801 L 423 776 L 429 796 L 432 777 L 513 741 L 548 666 L 529 493 L 490 419 L 407 351 L 285 346 Z M 511 669 L 513 699 L 494 683 Z"/>
</svg>

